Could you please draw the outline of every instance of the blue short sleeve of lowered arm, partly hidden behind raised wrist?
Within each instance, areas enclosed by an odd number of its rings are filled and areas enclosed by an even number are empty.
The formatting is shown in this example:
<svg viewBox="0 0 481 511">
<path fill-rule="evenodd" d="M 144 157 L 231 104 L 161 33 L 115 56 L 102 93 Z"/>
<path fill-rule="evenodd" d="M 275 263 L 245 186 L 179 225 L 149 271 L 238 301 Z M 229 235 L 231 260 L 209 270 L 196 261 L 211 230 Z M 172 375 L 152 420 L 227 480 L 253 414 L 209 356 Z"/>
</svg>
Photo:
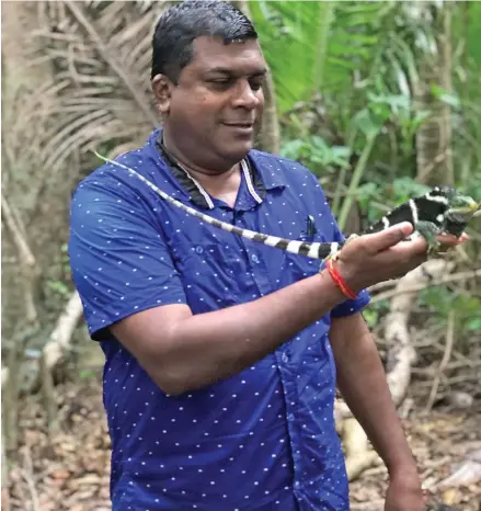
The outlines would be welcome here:
<svg viewBox="0 0 481 511">
<path fill-rule="evenodd" d="M 341 232 L 341 229 L 339 228 L 337 223 L 335 222 L 335 218 L 329 206 L 329 203 L 322 190 L 322 186 L 319 184 L 316 175 L 313 175 L 310 171 L 308 172 L 312 179 L 314 203 L 316 203 L 316 207 L 319 211 L 319 215 L 324 218 L 324 225 L 329 225 L 330 227 L 332 227 L 332 231 L 330 232 L 331 235 L 330 237 L 332 237 L 332 241 L 335 241 L 335 242 L 345 241 L 345 237 Z M 331 316 L 334 318 L 337 318 L 342 316 L 351 316 L 356 313 L 360 313 L 369 302 L 370 302 L 369 293 L 366 289 L 362 289 L 358 293 L 357 298 L 346 299 L 345 302 L 342 302 L 336 307 L 334 307 L 331 310 Z"/>
</svg>

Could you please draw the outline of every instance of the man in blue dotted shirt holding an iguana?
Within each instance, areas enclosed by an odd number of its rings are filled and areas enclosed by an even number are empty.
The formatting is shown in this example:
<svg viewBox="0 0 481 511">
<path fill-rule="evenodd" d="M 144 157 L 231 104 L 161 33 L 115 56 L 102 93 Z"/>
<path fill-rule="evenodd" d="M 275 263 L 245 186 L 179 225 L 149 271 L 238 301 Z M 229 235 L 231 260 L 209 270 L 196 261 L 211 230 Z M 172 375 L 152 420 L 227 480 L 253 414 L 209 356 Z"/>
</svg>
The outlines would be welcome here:
<svg viewBox="0 0 481 511">
<path fill-rule="evenodd" d="M 314 177 L 252 149 L 266 65 L 249 20 L 228 3 L 176 4 L 152 46 L 162 128 L 118 161 L 232 225 L 340 241 Z M 316 261 L 202 223 L 119 167 L 88 177 L 72 200 L 69 253 L 106 357 L 114 511 L 347 510 L 336 376 L 389 468 L 386 509 L 421 510 L 360 316 L 365 287 L 425 260 L 423 240 L 398 245 L 409 231 L 346 246 L 340 287 Z"/>
</svg>

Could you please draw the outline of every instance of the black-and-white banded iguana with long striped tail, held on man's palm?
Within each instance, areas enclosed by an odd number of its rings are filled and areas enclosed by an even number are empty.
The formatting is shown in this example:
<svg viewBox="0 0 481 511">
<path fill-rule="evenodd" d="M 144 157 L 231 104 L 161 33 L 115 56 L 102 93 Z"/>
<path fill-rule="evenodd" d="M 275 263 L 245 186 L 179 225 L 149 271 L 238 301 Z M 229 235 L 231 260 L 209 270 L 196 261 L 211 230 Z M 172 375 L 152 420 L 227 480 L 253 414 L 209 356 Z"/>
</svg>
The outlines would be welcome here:
<svg viewBox="0 0 481 511">
<path fill-rule="evenodd" d="M 359 235 L 350 236 L 344 242 L 306 242 L 298 240 L 289 240 L 285 238 L 278 238 L 276 236 L 270 236 L 262 232 L 256 232 L 249 229 L 242 229 L 233 226 L 226 222 L 213 218 L 209 215 L 201 213 L 193 207 L 186 206 L 185 204 L 176 201 L 175 198 L 162 192 L 158 186 L 151 183 L 144 175 L 138 173 L 136 170 L 116 161 L 105 158 L 94 151 L 95 155 L 103 161 L 127 170 L 138 179 L 144 181 L 151 190 L 153 190 L 163 200 L 168 201 L 172 205 L 188 213 L 190 215 L 196 216 L 203 222 L 233 232 L 243 238 L 252 241 L 257 241 L 268 247 L 275 247 L 286 252 L 306 256 L 312 259 L 335 259 L 340 252 L 340 249 L 354 237 Z M 474 213 L 479 209 L 480 204 L 473 198 L 467 195 L 462 195 L 450 186 L 436 186 L 415 198 L 410 198 L 408 202 L 399 205 L 394 209 L 387 213 L 382 218 L 371 224 L 363 234 L 377 232 L 383 230 L 394 224 L 401 222 L 410 222 L 414 231 L 423 236 L 428 242 L 430 250 L 436 250 L 438 248 L 438 241 L 436 235 L 439 234 L 451 234 L 459 237 L 465 230 L 468 222 L 472 218 Z M 414 234 L 414 232 L 413 232 Z M 413 236 L 413 235 L 412 235 Z"/>
</svg>

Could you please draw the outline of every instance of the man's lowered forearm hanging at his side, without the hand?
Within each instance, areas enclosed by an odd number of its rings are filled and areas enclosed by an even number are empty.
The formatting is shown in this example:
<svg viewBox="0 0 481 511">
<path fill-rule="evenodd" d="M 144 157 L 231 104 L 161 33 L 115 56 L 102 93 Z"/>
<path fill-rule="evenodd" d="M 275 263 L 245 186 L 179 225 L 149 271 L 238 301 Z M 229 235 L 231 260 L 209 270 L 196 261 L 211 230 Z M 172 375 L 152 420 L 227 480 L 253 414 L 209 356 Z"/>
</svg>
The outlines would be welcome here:
<svg viewBox="0 0 481 511">
<path fill-rule="evenodd" d="M 334 319 L 330 337 L 340 390 L 389 473 L 414 470 L 376 344 L 362 316 Z"/>
</svg>

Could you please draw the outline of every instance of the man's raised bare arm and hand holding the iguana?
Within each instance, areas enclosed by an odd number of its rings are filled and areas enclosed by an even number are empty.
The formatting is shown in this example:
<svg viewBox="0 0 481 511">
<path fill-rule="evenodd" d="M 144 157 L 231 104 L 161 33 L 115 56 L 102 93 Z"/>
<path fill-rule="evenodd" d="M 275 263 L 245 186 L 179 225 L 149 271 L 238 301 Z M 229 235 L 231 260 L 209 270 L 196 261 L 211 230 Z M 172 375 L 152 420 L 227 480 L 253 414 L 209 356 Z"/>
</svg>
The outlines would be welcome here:
<svg viewBox="0 0 481 511">
<path fill-rule="evenodd" d="M 359 237 L 342 249 L 339 265 L 354 291 L 404 274 L 424 261 L 424 240 L 398 243 L 412 230 L 403 227 Z M 243 371 L 344 299 L 323 272 L 211 313 L 192 315 L 186 305 L 146 309 L 111 330 L 159 387 L 183 394 Z"/>
</svg>

